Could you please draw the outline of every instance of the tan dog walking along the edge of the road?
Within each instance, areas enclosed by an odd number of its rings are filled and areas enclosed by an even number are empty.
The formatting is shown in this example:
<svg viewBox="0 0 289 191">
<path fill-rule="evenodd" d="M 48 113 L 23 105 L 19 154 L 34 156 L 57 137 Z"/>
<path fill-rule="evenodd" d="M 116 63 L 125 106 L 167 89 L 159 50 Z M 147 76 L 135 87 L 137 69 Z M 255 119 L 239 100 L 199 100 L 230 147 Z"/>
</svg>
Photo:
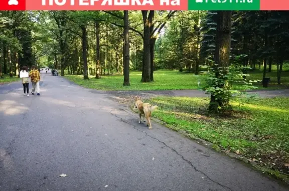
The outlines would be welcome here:
<svg viewBox="0 0 289 191">
<path fill-rule="evenodd" d="M 152 112 L 158 108 L 157 105 L 152 106 L 149 103 L 143 103 L 140 98 L 136 97 L 135 98 L 135 103 L 134 103 L 135 108 L 138 109 L 139 112 L 139 121 L 138 123 L 141 123 L 141 115 L 145 115 L 147 119 L 147 126 L 149 129 L 152 129 L 152 124 L 151 124 L 151 116 Z"/>
</svg>

